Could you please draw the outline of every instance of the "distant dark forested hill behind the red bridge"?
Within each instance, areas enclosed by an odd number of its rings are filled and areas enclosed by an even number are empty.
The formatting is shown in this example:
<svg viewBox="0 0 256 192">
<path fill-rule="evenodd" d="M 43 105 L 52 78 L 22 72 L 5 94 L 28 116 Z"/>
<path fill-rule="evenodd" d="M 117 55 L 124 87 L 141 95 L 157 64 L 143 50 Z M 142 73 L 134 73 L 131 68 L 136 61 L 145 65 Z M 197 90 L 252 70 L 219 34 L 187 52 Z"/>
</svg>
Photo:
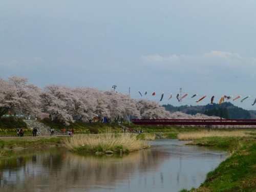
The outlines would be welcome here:
<svg viewBox="0 0 256 192">
<path fill-rule="evenodd" d="M 170 104 L 162 105 L 169 112 L 183 112 L 190 115 L 195 115 L 197 113 L 205 114 L 208 116 L 218 116 L 225 119 L 256 119 L 255 111 L 248 111 L 238 106 L 234 106 L 230 102 L 223 102 L 221 104 L 207 104 L 198 106 L 173 106 Z"/>
</svg>

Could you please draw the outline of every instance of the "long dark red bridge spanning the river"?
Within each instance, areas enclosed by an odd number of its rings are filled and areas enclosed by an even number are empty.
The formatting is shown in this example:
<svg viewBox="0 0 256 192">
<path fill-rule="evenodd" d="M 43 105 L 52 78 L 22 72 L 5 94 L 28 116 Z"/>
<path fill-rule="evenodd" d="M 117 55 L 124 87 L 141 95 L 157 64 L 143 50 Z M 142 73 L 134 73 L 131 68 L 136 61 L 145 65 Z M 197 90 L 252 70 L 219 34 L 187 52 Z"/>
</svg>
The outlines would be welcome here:
<svg viewBox="0 0 256 192">
<path fill-rule="evenodd" d="M 132 119 L 146 125 L 256 125 L 256 119 Z"/>
</svg>

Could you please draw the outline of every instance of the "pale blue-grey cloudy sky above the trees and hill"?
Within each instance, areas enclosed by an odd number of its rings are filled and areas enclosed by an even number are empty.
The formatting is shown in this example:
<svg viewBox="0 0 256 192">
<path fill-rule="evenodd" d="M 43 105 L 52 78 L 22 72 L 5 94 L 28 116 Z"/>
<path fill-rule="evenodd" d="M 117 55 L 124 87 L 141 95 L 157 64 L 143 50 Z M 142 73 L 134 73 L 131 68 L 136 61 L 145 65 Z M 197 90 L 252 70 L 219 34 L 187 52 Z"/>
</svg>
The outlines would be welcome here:
<svg viewBox="0 0 256 192">
<path fill-rule="evenodd" d="M 230 101 L 256 110 L 255 8 L 255 0 L 1 0 L 0 77 L 42 89 L 116 85 L 133 98 L 164 93 L 159 103 L 175 106 L 250 96 Z M 178 103 L 180 88 L 189 96 Z"/>
</svg>

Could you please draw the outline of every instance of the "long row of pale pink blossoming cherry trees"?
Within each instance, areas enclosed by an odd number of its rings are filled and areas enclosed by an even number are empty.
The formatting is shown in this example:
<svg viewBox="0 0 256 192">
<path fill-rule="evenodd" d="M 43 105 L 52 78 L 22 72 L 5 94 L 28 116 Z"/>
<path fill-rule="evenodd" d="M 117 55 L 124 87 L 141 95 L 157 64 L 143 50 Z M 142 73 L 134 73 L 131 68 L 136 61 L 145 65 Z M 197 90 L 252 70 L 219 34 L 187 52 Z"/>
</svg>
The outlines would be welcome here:
<svg viewBox="0 0 256 192">
<path fill-rule="evenodd" d="M 0 117 L 12 112 L 17 115 L 48 117 L 66 124 L 74 120 L 99 119 L 127 120 L 129 115 L 137 118 L 170 118 L 158 102 L 133 99 L 128 94 L 101 91 L 95 88 L 69 88 L 51 84 L 44 90 L 28 83 L 26 77 L 0 77 Z"/>
</svg>

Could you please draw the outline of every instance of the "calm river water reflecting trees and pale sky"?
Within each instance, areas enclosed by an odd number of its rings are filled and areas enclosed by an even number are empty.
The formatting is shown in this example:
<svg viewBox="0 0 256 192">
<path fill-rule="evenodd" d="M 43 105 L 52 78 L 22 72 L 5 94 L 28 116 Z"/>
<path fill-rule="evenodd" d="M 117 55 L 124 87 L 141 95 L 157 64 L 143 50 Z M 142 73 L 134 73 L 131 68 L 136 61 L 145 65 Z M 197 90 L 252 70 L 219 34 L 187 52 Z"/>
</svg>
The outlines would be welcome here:
<svg viewBox="0 0 256 192">
<path fill-rule="evenodd" d="M 199 187 L 226 152 L 162 139 L 128 155 L 86 155 L 65 148 L 19 151 L 0 161 L 0 191 L 179 191 Z"/>
</svg>

